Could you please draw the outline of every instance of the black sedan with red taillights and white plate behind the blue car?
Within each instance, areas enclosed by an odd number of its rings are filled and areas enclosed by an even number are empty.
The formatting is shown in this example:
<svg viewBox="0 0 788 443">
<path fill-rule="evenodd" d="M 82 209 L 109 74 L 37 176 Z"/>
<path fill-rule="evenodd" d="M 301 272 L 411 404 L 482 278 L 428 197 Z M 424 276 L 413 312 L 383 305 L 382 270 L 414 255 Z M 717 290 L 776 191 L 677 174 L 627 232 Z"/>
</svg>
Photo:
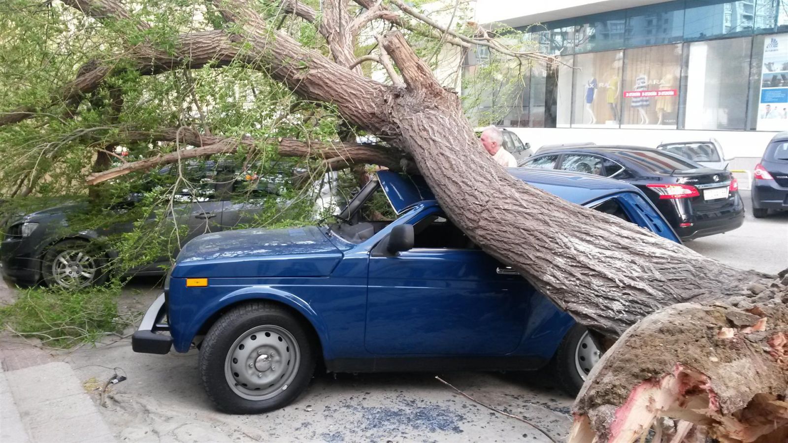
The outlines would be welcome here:
<svg viewBox="0 0 788 443">
<path fill-rule="evenodd" d="M 682 240 L 725 233 L 744 221 L 738 182 L 730 172 L 704 168 L 649 147 L 541 149 L 520 166 L 592 173 L 634 184 L 649 196 Z"/>
</svg>

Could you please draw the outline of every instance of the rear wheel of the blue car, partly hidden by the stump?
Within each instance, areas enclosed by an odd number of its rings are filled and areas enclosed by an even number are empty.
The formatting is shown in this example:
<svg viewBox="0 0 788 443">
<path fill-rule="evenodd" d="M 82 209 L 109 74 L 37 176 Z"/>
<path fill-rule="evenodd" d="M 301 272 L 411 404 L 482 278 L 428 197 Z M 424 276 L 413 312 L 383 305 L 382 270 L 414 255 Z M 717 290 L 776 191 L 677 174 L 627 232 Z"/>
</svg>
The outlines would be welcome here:
<svg viewBox="0 0 788 443">
<path fill-rule="evenodd" d="M 571 396 L 577 396 L 585 377 L 594 364 L 599 361 L 598 352 L 589 330 L 585 326 L 574 325 L 559 344 L 552 359 L 552 373 L 556 374 L 559 388 Z"/>
</svg>

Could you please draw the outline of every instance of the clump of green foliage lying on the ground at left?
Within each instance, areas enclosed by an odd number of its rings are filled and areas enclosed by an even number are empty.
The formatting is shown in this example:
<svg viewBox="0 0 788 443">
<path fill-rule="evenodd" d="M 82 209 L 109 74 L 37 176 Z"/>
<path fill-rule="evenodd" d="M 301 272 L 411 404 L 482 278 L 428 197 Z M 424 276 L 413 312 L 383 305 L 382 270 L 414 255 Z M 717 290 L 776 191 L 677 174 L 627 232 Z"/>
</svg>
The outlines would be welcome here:
<svg viewBox="0 0 788 443">
<path fill-rule="evenodd" d="M 0 322 L 54 348 L 92 343 L 124 328 L 125 322 L 117 315 L 120 293 L 120 285 L 80 291 L 20 289 L 16 303 L 0 307 Z"/>
</svg>

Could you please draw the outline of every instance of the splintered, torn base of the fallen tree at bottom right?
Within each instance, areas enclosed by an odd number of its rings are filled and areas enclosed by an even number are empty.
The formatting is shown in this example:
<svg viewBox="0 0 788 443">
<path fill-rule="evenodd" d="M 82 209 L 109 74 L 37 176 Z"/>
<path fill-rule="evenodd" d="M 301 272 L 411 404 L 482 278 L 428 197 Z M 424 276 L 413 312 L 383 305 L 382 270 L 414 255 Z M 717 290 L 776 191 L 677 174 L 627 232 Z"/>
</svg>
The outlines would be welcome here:
<svg viewBox="0 0 788 443">
<path fill-rule="evenodd" d="M 628 329 L 589 374 L 569 442 L 788 441 L 785 272 L 724 301 L 666 307 Z M 674 422 L 666 429 L 661 418 Z"/>
</svg>

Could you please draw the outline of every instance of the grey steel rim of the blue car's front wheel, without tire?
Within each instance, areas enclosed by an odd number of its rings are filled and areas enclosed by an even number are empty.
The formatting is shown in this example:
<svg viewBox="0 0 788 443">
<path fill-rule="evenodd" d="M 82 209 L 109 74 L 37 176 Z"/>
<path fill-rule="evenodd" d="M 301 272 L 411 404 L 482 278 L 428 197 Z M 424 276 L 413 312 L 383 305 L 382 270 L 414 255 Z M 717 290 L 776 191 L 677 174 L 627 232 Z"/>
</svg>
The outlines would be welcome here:
<svg viewBox="0 0 788 443">
<path fill-rule="evenodd" d="M 236 395 L 268 400 L 292 384 L 301 359 L 296 338 L 274 325 L 255 326 L 242 333 L 225 358 L 225 379 Z"/>
</svg>

